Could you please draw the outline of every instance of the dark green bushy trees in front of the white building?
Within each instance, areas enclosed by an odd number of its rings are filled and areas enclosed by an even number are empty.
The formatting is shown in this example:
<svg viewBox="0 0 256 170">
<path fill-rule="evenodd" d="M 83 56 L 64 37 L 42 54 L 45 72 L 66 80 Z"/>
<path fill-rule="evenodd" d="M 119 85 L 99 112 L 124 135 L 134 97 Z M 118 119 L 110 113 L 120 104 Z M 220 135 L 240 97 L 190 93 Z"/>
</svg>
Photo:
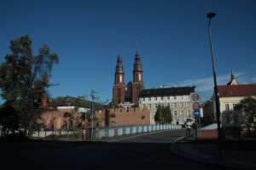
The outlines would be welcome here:
<svg viewBox="0 0 256 170">
<path fill-rule="evenodd" d="M 157 106 L 154 121 L 160 124 L 172 123 L 172 111 L 169 106 Z"/>
</svg>

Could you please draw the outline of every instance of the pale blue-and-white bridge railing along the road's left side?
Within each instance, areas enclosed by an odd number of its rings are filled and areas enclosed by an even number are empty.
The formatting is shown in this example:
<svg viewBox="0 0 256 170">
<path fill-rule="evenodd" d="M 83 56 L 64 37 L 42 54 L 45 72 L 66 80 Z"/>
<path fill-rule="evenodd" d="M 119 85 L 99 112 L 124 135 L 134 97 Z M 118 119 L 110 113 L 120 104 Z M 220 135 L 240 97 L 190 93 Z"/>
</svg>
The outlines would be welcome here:
<svg viewBox="0 0 256 170">
<path fill-rule="evenodd" d="M 164 124 L 164 125 L 138 125 L 126 127 L 104 127 L 93 131 L 92 139 L 112 138 L 127 134 L 148 133 L 168 129 L 180 129 L 181 125 Z"/>
</svg>

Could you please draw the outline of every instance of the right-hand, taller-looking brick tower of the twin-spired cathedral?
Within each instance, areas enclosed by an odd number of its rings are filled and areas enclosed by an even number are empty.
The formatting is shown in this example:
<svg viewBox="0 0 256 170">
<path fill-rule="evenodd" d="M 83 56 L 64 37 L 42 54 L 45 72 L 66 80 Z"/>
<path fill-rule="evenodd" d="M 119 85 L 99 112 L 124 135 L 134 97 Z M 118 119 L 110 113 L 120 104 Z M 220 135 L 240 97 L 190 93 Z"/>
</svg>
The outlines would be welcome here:
<svg viewBox="0 0 256 170">
<path fill-rule="evenodd" d="M 131 103 L 136 104 L 138 102 L 138 94 L 143 91 L 143 66 L 141 63 L 140 54 L 135 54 L 135 61 L 133 65 L 133 81 L 131 85 Z"/>
</svg>

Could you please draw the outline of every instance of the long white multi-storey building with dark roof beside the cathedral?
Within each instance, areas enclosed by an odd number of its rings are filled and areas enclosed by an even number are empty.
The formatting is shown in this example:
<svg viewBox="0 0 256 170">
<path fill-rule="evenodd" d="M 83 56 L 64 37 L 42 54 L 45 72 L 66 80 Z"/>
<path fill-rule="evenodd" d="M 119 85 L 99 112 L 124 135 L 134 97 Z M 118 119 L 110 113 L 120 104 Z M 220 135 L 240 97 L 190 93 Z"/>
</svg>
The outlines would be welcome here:
<svg viewBox="0 0 256 170">
<path fill-rule="evenodd" d="M 195 87 L 151 88 L 139 94 L 139 106 L 150 109 L 150 123 L 154 124 L 154 115 L 158 105 L 169 106 L 172 111 L 172 123 L 184 124 L 188 117 L 193 117 L 193 104 L 190 93 Z"/>
</svg>

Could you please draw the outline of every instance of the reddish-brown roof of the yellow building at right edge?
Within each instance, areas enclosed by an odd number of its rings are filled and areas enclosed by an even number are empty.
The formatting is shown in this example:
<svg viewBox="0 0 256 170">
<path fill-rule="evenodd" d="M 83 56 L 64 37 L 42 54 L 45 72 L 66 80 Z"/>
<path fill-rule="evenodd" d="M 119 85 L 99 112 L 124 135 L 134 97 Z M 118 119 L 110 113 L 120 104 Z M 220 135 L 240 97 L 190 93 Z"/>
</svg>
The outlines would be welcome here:
<svg viewBox="0 0 256 170">
<path fill-rule="evenodd" d="M 218 86 L 219 97 L 253 96 L 253 95 L 256 95 L 256 84 Z"/>
</svg>

